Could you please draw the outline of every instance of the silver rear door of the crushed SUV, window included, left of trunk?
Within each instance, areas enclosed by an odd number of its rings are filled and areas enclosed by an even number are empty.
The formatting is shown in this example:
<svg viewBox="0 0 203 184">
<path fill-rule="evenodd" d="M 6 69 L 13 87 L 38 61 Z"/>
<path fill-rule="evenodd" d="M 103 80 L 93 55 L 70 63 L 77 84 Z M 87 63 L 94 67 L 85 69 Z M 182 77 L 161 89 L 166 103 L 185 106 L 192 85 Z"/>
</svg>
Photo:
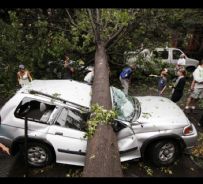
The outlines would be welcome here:
<svg viewBox="0 0 203 184">
<path fill-rule="evenodd" d="M 86 118 L 76 109 L 62 108 L 48 130 L 47 140 L 56 152 L 56 162 L 84 165 L 87 139 L 84 138 Z"/>
</svg>

